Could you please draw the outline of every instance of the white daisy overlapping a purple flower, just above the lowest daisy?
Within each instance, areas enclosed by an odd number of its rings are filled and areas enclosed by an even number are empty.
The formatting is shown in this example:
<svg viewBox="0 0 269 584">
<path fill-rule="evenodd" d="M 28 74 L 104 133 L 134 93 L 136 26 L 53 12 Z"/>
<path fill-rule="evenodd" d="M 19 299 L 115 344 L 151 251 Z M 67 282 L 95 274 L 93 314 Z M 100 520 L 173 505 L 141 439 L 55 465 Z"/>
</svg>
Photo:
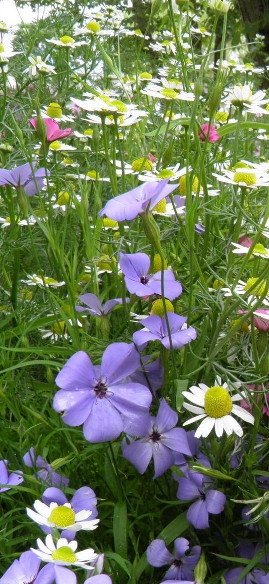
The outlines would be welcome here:
<svg viewBox="0 0 269 584">
<path fill-rule="evenodd" d="M 30 519 L 39 525 L 44 525 L 46 527 L 52 527 L 56 529 L 68 529 L 69 531 L 80 531 L 85 529 L 86 531 L 92 531 L 96 529 L 99 519 L 92 519 L 88 521 L 89 517 L 92 515 L 91 511 L 81 510 L 75 513 L 72 509 L 71 503 L 64 503 L 64 505 L 58 505 L 58 503 L 50 503 L 46 505 L 39 499 L 34 501 L 33 509 L 26 508 L 26 512 Z"/>
</svg>

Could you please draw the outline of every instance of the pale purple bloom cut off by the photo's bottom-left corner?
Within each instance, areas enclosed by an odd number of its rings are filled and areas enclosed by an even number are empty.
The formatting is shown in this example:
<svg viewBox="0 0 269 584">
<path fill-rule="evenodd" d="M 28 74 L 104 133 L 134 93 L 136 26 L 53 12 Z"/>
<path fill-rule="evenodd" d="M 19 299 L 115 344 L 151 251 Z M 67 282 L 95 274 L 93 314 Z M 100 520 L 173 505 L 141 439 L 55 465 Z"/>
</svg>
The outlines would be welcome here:
<svg viewBox="0 0 269 584">
<path fill-rule="evenodd" d="M 40 559 L 32 551 L 24 552 L 19 559 L 15 559 L 4 576 L 0 578 L 1 584 L 36 583 L 40 562 Z"/>
</svg>

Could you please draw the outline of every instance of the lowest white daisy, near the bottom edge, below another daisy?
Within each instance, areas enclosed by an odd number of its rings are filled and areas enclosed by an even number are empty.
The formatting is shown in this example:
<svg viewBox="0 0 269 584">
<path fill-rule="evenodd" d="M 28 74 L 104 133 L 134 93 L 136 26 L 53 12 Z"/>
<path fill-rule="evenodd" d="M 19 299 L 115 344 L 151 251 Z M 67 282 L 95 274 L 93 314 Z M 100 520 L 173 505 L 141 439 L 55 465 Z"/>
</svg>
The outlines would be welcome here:
<svg viewBox="0 0 269 584">
<path fill-rule="evenodd" d="M 54 544 L 51 535 L 46 537 L 46 545 L 42 540 L 37 540 L 38 550 L 31 548 L 31 551 L 37 555 L 43 562 L 56 564 L 58 566 L 79 566 L 86 570 L 92 570 L 93 566 L 89 566 L 89 562 L 93 562 L 97 558 L 97 554 L 92 548 L 76 552 L 78 547 L 77 541 L 67 541 L 61 537 L 56 544 Z"/>
</svg>

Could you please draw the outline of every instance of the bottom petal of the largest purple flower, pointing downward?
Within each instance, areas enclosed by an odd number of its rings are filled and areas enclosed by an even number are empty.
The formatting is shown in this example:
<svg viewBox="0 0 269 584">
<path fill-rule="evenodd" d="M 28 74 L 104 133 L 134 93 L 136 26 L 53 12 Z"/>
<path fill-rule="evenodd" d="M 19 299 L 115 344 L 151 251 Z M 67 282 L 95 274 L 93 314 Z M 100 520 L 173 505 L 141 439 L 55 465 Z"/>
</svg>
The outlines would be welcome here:
<svg viewBox="0 0 269 584">
<path fill-rule="evenodd" d="M 109 399 L 96 398 L 92 411 L 83 425 L 83 434 L 88 442 L 114 440 L 123 432 L 120 413 L 110 404 Z"/>
</svg>

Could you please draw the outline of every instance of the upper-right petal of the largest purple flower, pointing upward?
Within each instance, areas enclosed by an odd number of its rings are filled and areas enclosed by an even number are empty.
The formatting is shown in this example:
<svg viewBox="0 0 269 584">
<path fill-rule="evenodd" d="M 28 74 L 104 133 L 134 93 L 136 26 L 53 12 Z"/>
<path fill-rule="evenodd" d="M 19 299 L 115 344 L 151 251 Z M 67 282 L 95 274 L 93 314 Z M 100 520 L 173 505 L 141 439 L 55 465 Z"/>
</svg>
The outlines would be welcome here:
<svg viewBox="0 0 269 584">
<path fill-rule="evenodd" d="M 102 375 L 107 378 L 107 385 L 116 384 L 134 373 L 139 365 L 139 353 L 134 343 L 112 343 L 103 354 Z"/>
</svg>

